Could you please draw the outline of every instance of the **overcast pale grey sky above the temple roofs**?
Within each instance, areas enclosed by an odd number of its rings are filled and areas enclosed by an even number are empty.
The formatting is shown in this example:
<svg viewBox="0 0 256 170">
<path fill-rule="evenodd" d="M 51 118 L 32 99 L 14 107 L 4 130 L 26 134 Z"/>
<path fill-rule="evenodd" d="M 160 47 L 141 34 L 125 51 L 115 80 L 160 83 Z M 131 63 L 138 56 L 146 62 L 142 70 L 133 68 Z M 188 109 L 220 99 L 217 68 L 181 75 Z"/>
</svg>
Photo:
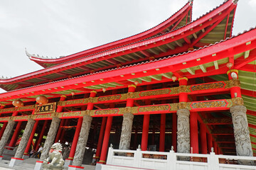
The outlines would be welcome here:
<svg viewBox="0 0 256 170">
<path fill-rule="evenodd" d="M 195 20 L 224 0 L 194 0 Z M 0 76 L 42 69 L 28 52 L 48 57 L 71 55 L 126 38 L 169 18 L 187 0 L 1 0 Z M 255 27 L 256 0 L 240 0 L 233 35 Z M 0 89 L 0 93 L 3 90 Z"/>
</svg>

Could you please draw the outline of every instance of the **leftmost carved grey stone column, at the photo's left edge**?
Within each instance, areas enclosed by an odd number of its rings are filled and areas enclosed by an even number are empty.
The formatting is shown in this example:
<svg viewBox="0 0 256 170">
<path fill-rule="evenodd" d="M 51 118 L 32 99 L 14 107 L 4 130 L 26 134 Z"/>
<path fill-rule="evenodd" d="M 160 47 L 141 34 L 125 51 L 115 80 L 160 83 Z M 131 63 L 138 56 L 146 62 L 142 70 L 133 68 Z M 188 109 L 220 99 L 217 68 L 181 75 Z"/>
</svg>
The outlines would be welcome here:
<svg viewBox="0 0 256 170">
<path fill-rule="evenodd" d="M 4 152 L 4 147 L 6 146 L 7 141 L 9 140 L 9 137 L 11 135 L 12 130 L 14 129 L 15 122 L 14 120 L 8 120 L 8 124 L 6 126 L 6 129 L 4 130 L 4 134 L 1 137 L 0 140 L 0 155 Z"/>
</svg>

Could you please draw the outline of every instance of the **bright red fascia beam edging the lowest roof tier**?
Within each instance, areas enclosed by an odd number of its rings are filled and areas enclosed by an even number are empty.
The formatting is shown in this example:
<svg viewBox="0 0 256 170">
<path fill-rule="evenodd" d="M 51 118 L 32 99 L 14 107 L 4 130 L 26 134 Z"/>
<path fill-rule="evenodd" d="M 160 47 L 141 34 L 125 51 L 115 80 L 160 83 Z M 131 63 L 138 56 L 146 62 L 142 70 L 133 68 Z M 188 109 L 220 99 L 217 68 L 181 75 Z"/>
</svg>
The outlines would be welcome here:
<svg viewBox="0 0 256 170">
<path fill-rule="evenodd" d="M 100 79 L 105 79 L 105 83 L 111 82 L 111 79 L 119 79 L 119 81 L 122 81 L 124 79 L 132 79 L 132 78 L 137 78 L 137 77 L 144 77 L 144 76 L 149 76 L 149 75 L 154 75 L 154 74 L 161 74 L 165 72 L 175 72 L 180 69 L 184 69 L 186 67 L 193 67 L 195 64 L 195 61 L 198 57 L 201 57 L 201 62 L 203 63 L 208 63 L 208 62 L 213 62 L 214 60 L 220 60 L 223 59 L 224 57 L 228 57 L 231 55 L 235 55 L 237 53 L 240 53 L 242 51 L 252 49 L 256 46 L 256 29 L 251 30 L 247 33 L 244 33 L 242 35 L 239 35 L 238 37 L 232 38 L 230 40 L 221 42 L 219 44 L 207 47 L 206 50 L 198 50 L 194 52 L 190 52 L 178 57 L 171 57 L 168 60 L 161 60 L 159 62 L 149 62 L 147 64 L 142 64 L 134 67 L 127 67 L 124 69 L 117 69 L 112 72 L 102 72 L 100 74 L 92 74 L 88 75 L 85 77 L 78 77 L 76 79 L 68 79 L 64 81 L 58 81 L 58 82 L 53 82 L 51 84 L 45 84 L 41 86 L 34 86 L 29 89 L 20 89 L 17 91 L 11 91 L 9 93 L 5 94 L 0 94 L 0 100 L 4 101 L 4 97 L 9 97 L 9 96 L 15 96 L 18 94 L 24 94 L 24 97 L 26 96 L 32 96 L 31 94 L 28 94 L 32 91 L 34 91 L 33 95 L 36 94 L 47 94 L 49 92 L 54 92 L 54 91 L 61 91 L 65 89 L 74 89 L 74 84 L 79 84 L 77 88 L 80 88 L 82 86 L 85 86 L 85 84 L 81 84 L 81 82 L 87 81 L 88 83 L 86 86 L 91 86 L 95 84 L 102 84 L 102 81 Z M 245 42 L 251 41 L 250 45 L 245 45 Z M 227 51 L 227 49 L 230 49 L 230 47 L 234 47 L 234 52 L 230 53 Z M 211 57 L 212 54 L 216 54 L 215 57 Z M 202 57 L 204 56 L 204 57 Z M 183 62 L 187 62 L 187 64 L 183 64 Z M 172 65 L 170 65 L 170 63 Z M 161 67 L 162 69 L 159 69 L 159 71 L 156 72 L 156 68 Z M 221 70 L 221 69 L 219 69 Z M 137 72 L 135 76 L 132 76 L 131 74 Z M 144 71 L 147 71 L 144 73 Z M 225 69 L 225 71 L 227 71 Z M 119 75 L 126 74 L 127 76 L 124 77 L 119 77 Z M 212 73 L 214 74 L 214 72 Z M 218 74 L 218 73 L 215 73 Z M 114 77 L 115 76 L 115 77 Z M 191 76 L 193 77 L 193 76 Z M 109 79 L 110 78 L 110 79 Z M 188 77 L 190 78 L 190 77 Z M 95 81 L 95 82 L 92 82 Z M 99 81 L 97 81 L 99 80 Z M 65 87 L 63 89 L 60 88 L 60 86 L 63 86 L 65 84 Z M 57 88 L 57 89 L 54 89 Z M 77 89 L 75 88 L 75 89 Z M 50 91 L 46 89 L 51 89 Z M 45 91 L 43 91 L 45 90 Z M 40 91 L 40 92 L 39 92 Z M 16 97 L 18 98 L 18 97 Z"/>
</svg>

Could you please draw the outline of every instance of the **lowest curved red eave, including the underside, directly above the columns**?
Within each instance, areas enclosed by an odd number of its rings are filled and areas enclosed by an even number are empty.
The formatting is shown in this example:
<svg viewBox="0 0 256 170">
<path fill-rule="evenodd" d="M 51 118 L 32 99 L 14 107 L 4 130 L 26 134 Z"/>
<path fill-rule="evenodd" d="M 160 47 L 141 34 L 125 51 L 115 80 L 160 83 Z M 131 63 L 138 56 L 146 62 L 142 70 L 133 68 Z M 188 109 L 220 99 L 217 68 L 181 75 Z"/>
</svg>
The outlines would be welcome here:
<svg viewBox="0 0 256 170">
<path fill-rule="evenodd" d="M 0 94 L 0 101 L 21 98 L 21 96 L 22 98 L 26 98 L 28 96 L 49 94 L 56 91 L 97 86 L 102 84 L 102 80 L 104 80 L 105 84 L 113 82 L 122 84 L 122 81 L 127 81 L 127 79 L 151 77 L 152 75 L 161 75 L 170 72 L 171 74 L 178 72 L 179 76 L 186 76 L 188 79 L 226 74 L 228 68 L 225 66 L 225 63 L 220 64 L 218 68 L 215 66 L 208 67 L 206 68 L 207 72 L 203 72 L 203 70 L 200 69 L 195 70 L 195 74 L 191 74 L 191 72 L 181 72 L 181 70 L 187 69 L 188 71 L 188 69 L 191 69 L 192 67 L 213 63 L 227 57 L 232 60 L 234 55 L 240 55 L 247 50 L 253 50 L 255 48 L 256 29 L 254 28 L 246 33 L 243 33 L 242 35 L 238 35 L 237 37 L 230 38 L 223 42 L 218 42 L 215 45 L 210 45 L 209 47 L 194 50 L 193 52 L 186 52 L 181 55 L 165 57 L 163 59 L 154 60 L 151 62 L 142 62 L 139 64 L 133 64 L 131 66 L 121 67 L 119 69 L 110 69 L 103 72 L 96 72 L 94 74 L 85 74 L 80 77 L 53 81 L 47 84 L 9 91 L 7 93 Z M 233 51 L 230 52 L 230 49 L 233 49 Z M 247 57 L 245 62 L 250 62 L 250 60 L 255 60 L 255 55 L 252 54 L 250 57 Z M 235 68 L 236 65 L 237 64 L 235 64 Z M 239 60 L 238 66 L 241 66 Z M 169 79 L 171 79 L 171 77 L 169 77 Z"/>
</svg>

